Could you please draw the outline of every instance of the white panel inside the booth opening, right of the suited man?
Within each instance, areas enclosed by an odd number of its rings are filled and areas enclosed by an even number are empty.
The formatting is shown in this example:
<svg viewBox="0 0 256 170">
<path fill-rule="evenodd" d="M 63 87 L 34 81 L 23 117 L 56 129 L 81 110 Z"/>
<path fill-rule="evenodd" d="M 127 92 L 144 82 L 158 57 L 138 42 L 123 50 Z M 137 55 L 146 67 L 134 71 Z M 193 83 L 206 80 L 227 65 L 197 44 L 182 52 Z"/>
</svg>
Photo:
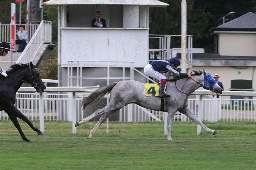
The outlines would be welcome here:
<svg viewBox="0 0 256 170">
<path fill-rule="evenodd" d="M 140 8 L 139 5 L 123 5 L 123 27 L 139 28 Z"/>
</svg>

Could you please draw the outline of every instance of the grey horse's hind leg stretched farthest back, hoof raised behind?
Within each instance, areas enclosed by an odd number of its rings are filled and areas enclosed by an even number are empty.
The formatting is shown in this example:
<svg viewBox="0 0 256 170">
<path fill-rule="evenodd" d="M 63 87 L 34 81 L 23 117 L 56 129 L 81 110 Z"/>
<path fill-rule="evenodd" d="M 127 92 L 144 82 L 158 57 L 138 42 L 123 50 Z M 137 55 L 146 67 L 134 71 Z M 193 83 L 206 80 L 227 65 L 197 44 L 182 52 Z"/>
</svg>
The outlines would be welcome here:
<svg viewBox="0 0 256 170">
<path fill-rule="evenodd" d="M 107 112 L 110 112 L 110 111 L 114 111 L 114 110 L 117 110 L 118 108 L 116 108 L 114 105 L 112 104 L 108 104 L 107 106 L 101 108 L 101 109 L 98 109 L 96 110 L 93 114 L 91 114 L 90 116 L 87 116 L 85 117 L 82 121 L 80 122 L 76 122 L 75 123 L 75 127 L 81 125 L 81 124 L 85 124 L 86 122 L 90 121 L 91 119 L 93 119 L 94 117 L 96 116 L 99 116 L 101 114 L 104 114 L 104 113 L 107 113 Z"/>
</svg>

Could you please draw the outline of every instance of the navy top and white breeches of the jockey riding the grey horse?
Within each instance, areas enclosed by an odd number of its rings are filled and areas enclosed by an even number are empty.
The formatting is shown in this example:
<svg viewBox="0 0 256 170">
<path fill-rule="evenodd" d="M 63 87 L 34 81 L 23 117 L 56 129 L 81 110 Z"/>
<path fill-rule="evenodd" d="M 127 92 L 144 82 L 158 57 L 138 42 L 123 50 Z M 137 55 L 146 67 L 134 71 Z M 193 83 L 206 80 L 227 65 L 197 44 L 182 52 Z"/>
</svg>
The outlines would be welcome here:
<svg viewBox="0 0 256 170">
<path fill-rule="evenodd" d="M 154 60 L 150 64 L 146 65 L 144 68 L 144 73 L 150 77 L 154 77 L 159 81 L 166 79 L 166 77 L 161 73 L 167 73 L 170 71 L 178 77 L 187 77 L 187 74 L 180 73 L 176 71 L 168 60 Z"/>
</svg>

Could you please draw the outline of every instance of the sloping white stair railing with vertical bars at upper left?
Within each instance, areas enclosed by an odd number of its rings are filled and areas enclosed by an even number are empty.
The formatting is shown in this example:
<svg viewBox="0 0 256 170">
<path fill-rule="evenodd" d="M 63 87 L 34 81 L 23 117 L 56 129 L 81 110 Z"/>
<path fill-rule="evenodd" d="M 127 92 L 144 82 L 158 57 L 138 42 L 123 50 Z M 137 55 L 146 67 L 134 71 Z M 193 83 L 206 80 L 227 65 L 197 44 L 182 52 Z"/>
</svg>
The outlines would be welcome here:
<svg viewBox="0 0 256 170">
<path fill-rule="evenodd" d="M 42 21 L 40 23 L 38 29 L 36 29 L 35 34 L 29 41 L 28 45 L 26 46 L 16 63 L 30 62 L 44 42 L 52 42 L 52 22 L 50 21 Z"/>
</svg>

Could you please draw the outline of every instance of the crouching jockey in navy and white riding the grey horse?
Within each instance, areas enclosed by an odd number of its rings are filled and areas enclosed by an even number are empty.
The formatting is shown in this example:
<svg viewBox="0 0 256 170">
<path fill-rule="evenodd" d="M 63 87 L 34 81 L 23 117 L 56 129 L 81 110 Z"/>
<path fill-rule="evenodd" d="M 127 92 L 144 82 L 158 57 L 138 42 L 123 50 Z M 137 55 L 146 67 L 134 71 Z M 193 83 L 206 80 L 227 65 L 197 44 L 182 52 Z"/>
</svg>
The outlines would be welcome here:
<svg viewBox="0 0 256 170">
<path fill-rule="evenodd" d="M 176 71 L 176 68 L 180 65 L 179 59 L 176 57 L 171 58 L 170 60 L 154 60 L 144 68 L 144 73 L 147 76 L 154 77 L 158 79 L 160 84 L 160 93 L 159 97 L 170 97 L 164 90 L 166 87 L 166 77 L 161 73 L 167 73 L 170 71 L 178 77 L 191 77 L 190 74 L 184 74 Z"/>
</svg>

